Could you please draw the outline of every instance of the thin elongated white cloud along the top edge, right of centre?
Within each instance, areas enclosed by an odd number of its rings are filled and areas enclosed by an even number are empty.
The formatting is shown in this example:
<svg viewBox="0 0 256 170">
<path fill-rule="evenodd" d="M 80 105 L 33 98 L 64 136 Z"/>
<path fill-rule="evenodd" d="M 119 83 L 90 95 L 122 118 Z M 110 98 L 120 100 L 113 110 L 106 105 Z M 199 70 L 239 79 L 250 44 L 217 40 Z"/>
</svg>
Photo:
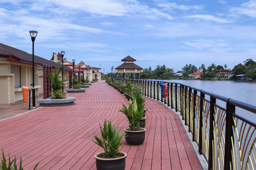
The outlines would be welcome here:
<svg viewBox="0 0 256 170">
<path fill-rule="evenodd" d="M 158 4 L 159 7 L 163 8 L 164 10 L 182 10 L 182 11 L 187 11 L 187 10 L 202 10 L 204 6 L 201 5 L 183 5 L 183 4 L 176 4 L 176 3 L 166 3 L 166 4 Z"/>
</svg>

